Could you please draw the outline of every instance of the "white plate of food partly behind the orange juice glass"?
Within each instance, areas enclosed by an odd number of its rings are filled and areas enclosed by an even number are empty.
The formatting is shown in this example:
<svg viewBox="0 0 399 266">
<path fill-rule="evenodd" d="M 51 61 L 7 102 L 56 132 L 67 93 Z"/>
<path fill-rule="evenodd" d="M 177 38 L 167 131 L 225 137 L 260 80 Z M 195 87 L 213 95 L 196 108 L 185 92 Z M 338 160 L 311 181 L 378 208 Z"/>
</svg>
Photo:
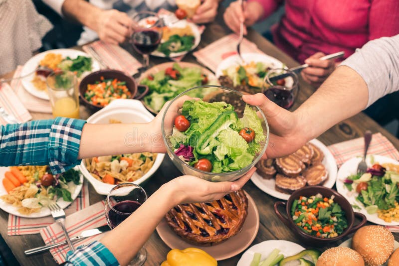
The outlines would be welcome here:
<svg viewBox="0 0 399 266">
<path fill-rule="evenodd" d="M 40 71 L 36 73 L 35 70 L 40 65 L 49 70 L 62 69 L 76 72 L 78 77 L 100 70 L 98 62 L 90 55 L 75 49 L 54 49 L 33 56 L 22 68 L 21 76 L 25 77 L 21 79 L 21 82 L 28 93 L 43 100 L 49 100 L 45 84 L 47 73 L 40 73 Z"/>
</svg>

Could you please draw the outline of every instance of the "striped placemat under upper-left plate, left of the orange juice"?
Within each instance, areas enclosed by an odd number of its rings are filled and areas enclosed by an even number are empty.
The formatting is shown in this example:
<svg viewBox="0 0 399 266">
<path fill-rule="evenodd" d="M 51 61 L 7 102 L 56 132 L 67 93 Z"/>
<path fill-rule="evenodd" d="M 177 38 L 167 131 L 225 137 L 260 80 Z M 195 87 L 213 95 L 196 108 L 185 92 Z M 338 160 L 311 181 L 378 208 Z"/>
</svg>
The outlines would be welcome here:
<svg viewBox="0 0 399 266">
<path fill-rule="evenodd" d="M 23 66 L 17 66 L 13 78 L 20 77 Z M 37 97 L 34 97 L 30 93 L 28 93 L 22 85 L 21 79 L 13 79 L 11 81 L 11 87 L 14 90 L 15 94 L 18 96 L 19 100 L 21 100 L 23 106 L 32 112 L 39 113 L 50 113 L 51 104 L 50 101 L 46 101 Z"/>
</svg>

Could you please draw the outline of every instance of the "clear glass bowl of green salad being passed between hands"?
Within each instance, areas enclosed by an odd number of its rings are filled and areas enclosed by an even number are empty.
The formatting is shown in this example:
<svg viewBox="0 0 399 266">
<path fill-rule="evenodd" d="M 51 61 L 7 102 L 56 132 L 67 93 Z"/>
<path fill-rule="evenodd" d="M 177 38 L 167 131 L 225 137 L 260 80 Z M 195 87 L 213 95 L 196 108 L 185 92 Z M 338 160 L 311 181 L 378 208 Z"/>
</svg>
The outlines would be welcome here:
<svg viewBox="0 0 399 266">
<path fill-rule="evenodd" d="M 189 89 L 167 103 L 162 137 L 172 162 L 183 174 L 212 182 L 234 181 L 260 160 L 269 141 L 269 126 L 263 112 L 247 105 L 242 95 L 226 87 L 206 85 Z M 227 105 L 208 104 L 214 102 Z M 190 126 L 183 119 L 186 125 L 181 124 L 178 130 L 175 120 L 182 115 Z M 245 140 L 244 133 L 251 131 L 255 136 Z"/>
</svg>

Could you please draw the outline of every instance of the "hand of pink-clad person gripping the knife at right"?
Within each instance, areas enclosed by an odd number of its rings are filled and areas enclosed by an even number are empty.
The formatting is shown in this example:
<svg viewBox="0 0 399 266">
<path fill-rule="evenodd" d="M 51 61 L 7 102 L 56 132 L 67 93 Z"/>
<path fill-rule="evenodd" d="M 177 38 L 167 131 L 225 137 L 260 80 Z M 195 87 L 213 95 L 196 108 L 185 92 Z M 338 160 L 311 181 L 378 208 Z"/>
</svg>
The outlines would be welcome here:
<svg viewBox="0 0 399 266">
<path fill-rule="evenodd" d="M 308 59 L 305 63 L 309 67 L 302 70 L 302 78 L 315 88 L 319 88 L 320 85 L 330 76 L 335 70 L 335 61 L 331 60 L 320 60 L 320 57 L 325 56 L 322 52 L 317 52 Z"/>
</svg>

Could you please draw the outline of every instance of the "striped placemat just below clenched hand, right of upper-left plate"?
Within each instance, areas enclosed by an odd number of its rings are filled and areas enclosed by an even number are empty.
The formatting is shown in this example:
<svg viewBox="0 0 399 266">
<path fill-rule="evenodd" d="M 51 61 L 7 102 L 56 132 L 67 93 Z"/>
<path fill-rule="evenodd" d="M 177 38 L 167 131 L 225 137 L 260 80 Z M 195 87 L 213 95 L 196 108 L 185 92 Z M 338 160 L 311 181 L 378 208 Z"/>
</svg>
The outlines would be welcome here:
<svg viewBox="0 0 399 266">
<path fill-rule="evenodd" d="M 109 69 L 116 69 L 130 76 L 135 74 L 137 69 L 142 66 L 136 58 L 119 45 L 95 41 L 84 45 L 83 50 L 93 58 L 99 56 Z M 93 54 L 92 50 L 94 50 L 95 54 Z"/>
</svg>

